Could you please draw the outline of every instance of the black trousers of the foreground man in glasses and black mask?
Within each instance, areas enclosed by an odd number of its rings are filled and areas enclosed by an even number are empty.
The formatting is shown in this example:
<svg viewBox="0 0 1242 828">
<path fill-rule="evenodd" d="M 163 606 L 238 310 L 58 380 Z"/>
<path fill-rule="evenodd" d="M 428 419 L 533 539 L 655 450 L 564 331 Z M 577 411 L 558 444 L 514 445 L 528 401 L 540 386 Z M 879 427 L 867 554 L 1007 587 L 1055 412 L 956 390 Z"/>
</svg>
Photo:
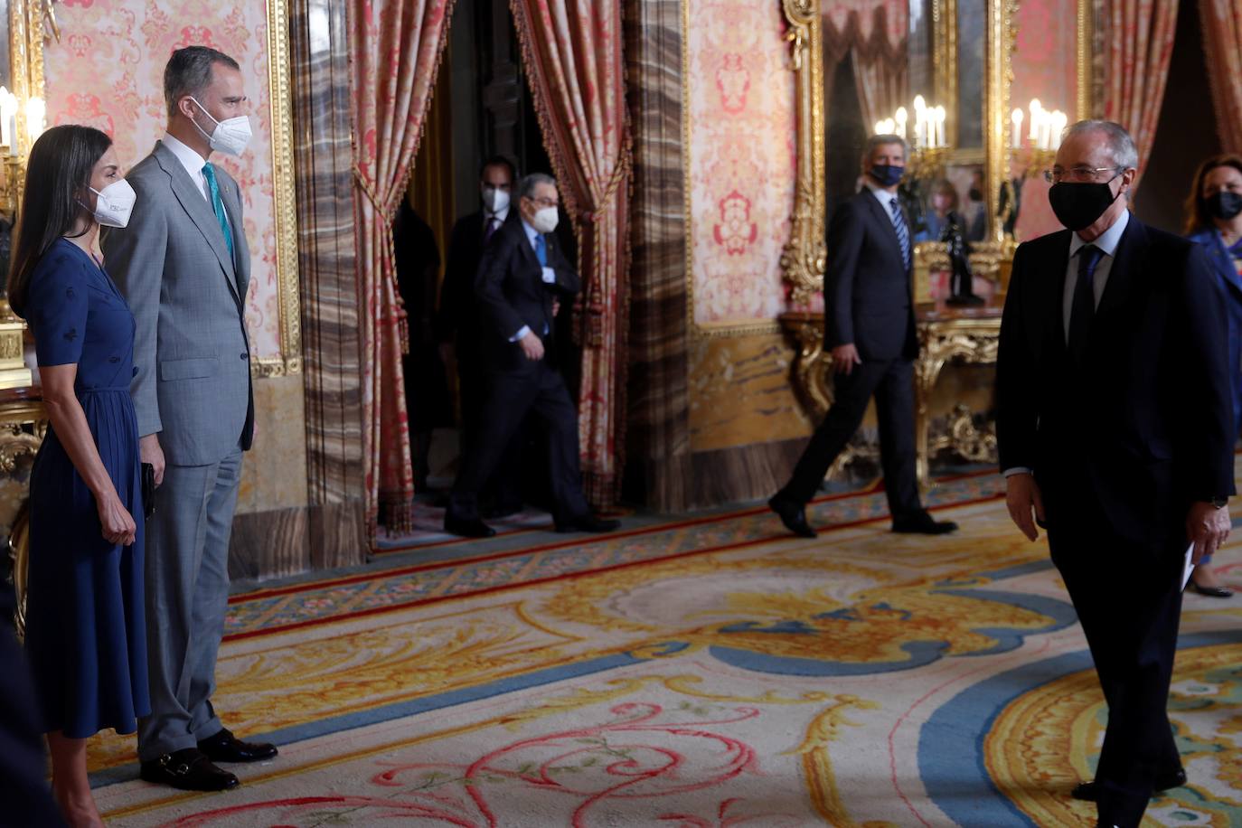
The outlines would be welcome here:
<svg viewBox="0 0 1242 828">
<path fill-rule="evenodd" d="M 1164 540 L 1126 539 L 1108 525 L 1087 487 L 1051 485 L 1041 480 L 1052 562 L 1078 612 L 1108 704 L 1095 770 L 1099 819 L 1136 827 L 1155 777 L 1181 767 L 1167 703 L 1189 546 L 1182 516 L 1164 521 L 1167 528 L 1155 533 Z"/>
</svg>

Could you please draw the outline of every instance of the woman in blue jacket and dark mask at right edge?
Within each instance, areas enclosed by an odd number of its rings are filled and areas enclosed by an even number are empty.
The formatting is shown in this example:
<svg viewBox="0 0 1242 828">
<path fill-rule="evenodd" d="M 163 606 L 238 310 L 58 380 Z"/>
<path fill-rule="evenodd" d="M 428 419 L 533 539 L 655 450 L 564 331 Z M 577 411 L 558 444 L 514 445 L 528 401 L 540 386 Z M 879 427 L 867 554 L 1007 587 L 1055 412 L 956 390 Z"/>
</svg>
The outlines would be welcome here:
<svg viewBox="0 0 1242 828">
<path fill-rule="evenodd" d="M 1186 199 L 1186 237 L 1203 246 L 1225 298 L 1237 434 L 1242 432 L 1242 156 L 1216 155 L 1199 165 Z M 1195 569 L 1191 587 L 1215 598 L 1232 596 L 1206 566 L 1208 560 Z"/>
</svg>

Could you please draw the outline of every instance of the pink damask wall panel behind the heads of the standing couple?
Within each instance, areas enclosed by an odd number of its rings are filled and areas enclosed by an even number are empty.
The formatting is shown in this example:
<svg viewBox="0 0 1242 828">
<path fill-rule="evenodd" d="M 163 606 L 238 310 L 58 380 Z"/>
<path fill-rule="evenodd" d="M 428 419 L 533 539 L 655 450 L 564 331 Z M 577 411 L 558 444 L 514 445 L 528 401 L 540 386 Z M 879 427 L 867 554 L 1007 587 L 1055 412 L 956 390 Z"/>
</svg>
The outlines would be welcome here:
<svg viewBox="0 0 1242 828">
<path fill-rule="evenodd" d="M 175 48 L 211 46 L 232 56 L 251 99 L 255 137 L 246 154 L 212 161 L 237 179 L 251 247 L 246 315 L 260 359 L 282 356 L 276 271 L 274 186 L 263 2 L 219 0 L 63 0 L 60 42 L 47 42 L 47 122 L 81 123 L 112 135 L 124 166 L 164 133 L 164 63 Z"/>
</svg>

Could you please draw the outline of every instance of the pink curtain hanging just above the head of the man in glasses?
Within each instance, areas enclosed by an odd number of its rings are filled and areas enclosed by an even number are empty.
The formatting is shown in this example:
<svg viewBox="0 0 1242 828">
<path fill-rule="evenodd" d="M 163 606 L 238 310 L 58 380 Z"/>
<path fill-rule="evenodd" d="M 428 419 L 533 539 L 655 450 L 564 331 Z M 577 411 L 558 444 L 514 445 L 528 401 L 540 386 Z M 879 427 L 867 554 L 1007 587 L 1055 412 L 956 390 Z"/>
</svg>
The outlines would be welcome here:
<svg viewBox="0 0 1242 828">
<path fill-rule="evenodd" d="M 1156 137 L 1176 29 L 1177 0 L 1108 4 L 1104 118 L 1122 124 L 1134 138 L 1140 178 Z"/>
</svg>

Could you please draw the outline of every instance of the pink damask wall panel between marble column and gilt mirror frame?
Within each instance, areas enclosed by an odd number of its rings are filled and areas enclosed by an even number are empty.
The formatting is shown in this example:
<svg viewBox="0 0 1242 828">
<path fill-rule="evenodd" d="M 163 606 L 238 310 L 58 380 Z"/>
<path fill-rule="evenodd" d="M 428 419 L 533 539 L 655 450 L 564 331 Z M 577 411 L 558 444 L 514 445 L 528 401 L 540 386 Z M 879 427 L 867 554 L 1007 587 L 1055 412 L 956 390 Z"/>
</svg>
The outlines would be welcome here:
<svg viewBox="0 0 1242 828">
<path fill-rule="evenodd" d="M 796 179 L 794 73 L 779 2 L 683 0 L 693 319 L 775 319 Z"/>
</svg>

